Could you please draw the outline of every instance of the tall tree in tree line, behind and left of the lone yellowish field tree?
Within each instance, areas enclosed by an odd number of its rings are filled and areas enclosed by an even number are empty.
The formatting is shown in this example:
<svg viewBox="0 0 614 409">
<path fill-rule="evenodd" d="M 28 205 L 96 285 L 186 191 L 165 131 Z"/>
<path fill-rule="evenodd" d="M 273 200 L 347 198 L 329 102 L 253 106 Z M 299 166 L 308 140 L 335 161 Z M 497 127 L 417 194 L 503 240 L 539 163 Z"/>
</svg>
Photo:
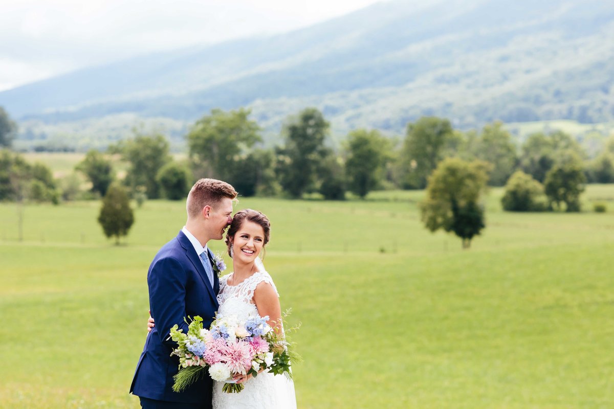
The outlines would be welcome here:
<svg viewBox="0 0 614 409">
<path fill-rule="evenodd" d="M 402 150 L 403 187 L 424 188 L 451 142 L 457 140 L 450 121 L 444 118 L 422 117 L 408 123 Z"/>
</svg>

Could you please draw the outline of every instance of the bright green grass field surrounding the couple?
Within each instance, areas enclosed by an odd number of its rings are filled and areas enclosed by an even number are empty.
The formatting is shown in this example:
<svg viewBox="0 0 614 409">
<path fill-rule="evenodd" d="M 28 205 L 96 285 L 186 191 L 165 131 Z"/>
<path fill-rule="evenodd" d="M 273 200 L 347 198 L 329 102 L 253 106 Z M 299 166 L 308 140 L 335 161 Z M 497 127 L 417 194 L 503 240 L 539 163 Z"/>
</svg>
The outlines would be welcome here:
<svg viewBox="0 0 614 409">
<path fill-rule="evenodd" d="M 505 213 L 472 248 L 419 222 L 422 192 L 367 201 L 243 199 L 271 218 L 265 264 L 305 362 L 299 408 L 614 406 L 614 186 L 608 213 Z M 184 204 L 136 210 L 125 245 L 98 202 L 0 204 L 0 407 L 138 408 L 146 272 Z M 212 245 L 222 250 L 221 243 Z"/>
</svg>

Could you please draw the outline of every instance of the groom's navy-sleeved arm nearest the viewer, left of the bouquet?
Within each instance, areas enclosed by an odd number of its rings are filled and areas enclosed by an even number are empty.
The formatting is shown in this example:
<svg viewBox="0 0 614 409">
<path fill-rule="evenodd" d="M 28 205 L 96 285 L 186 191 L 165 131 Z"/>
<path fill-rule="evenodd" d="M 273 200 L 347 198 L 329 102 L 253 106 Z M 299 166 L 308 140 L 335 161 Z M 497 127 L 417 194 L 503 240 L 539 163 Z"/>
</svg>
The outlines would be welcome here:
<svg viewBox="0 0 614 409">
<path fill-rule="evenodd" d="M 168 339 L 171 328 L 177 324 L 179 329 L 188 331 L 185 317 L 186 273 L 181 263 L 174 258 L 161 258 L 153 264 L 147 285 L 149 286 L 149 305 L 155 319 L 160 341 L 175 348 L 177 345 Z"/>
</svg>

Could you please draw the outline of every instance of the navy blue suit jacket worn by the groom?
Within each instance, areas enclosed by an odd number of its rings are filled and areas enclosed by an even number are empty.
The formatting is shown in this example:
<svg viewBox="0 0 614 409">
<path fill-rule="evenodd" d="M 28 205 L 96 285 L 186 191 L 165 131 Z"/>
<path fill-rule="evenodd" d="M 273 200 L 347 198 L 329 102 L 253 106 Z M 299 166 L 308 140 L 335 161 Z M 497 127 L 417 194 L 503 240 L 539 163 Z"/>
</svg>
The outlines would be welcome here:
<svg viewBox="0 0 614 409">
<path fill-rule="evenodd" d="M 203 318 L 204 328 L 211 326 L 218 307 L 219 280 L 214 277 L 214 288 L 211 288 L 200 256 L 180 231 L 153 258 L 147 273 L 147 285 L 155 327 L 147 334 L 130 392 L 155 400 L 211 405 L 212 381 L 208 376 L 184 392 L 173 392 L 173 376 L 179 370 L 179 358 L 171 357 L 177 344 L 167 338 L 175 324 L 184 330 L 184 334 L 188 332 L 184 322 L 187 316 L 199 315 Z"/>
</svg>

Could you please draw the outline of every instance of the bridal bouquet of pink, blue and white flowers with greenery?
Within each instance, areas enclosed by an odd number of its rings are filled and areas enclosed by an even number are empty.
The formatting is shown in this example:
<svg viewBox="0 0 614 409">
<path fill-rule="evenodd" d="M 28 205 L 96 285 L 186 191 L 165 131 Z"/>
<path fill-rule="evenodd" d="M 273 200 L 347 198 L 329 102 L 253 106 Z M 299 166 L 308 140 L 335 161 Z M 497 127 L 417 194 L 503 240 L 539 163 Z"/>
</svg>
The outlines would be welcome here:
<svg viewBox="0 0 614 409">
<path fill-rule="evenodd" d="M 233 382 L 238 374 L 257 377 L 258 372 L 267 370 L 292 377 L 290 357 L 297 356 L 289 350 L 281 325 L 272 328 L 267 320 L 268 316 L 239 319 L 225 315 L 204 329 L 203 319 L 195 316 L 188 323 L 187 334 L 177 325 L 171 328 L 170 338 L 178 344 L 171 355 L 179 357 L 173 391 L 183 391 L 207 372 L 213 380 L 225 382 L 222 391 L 228 393 L 243 390 L 243 384 Z"/>
</svg>

